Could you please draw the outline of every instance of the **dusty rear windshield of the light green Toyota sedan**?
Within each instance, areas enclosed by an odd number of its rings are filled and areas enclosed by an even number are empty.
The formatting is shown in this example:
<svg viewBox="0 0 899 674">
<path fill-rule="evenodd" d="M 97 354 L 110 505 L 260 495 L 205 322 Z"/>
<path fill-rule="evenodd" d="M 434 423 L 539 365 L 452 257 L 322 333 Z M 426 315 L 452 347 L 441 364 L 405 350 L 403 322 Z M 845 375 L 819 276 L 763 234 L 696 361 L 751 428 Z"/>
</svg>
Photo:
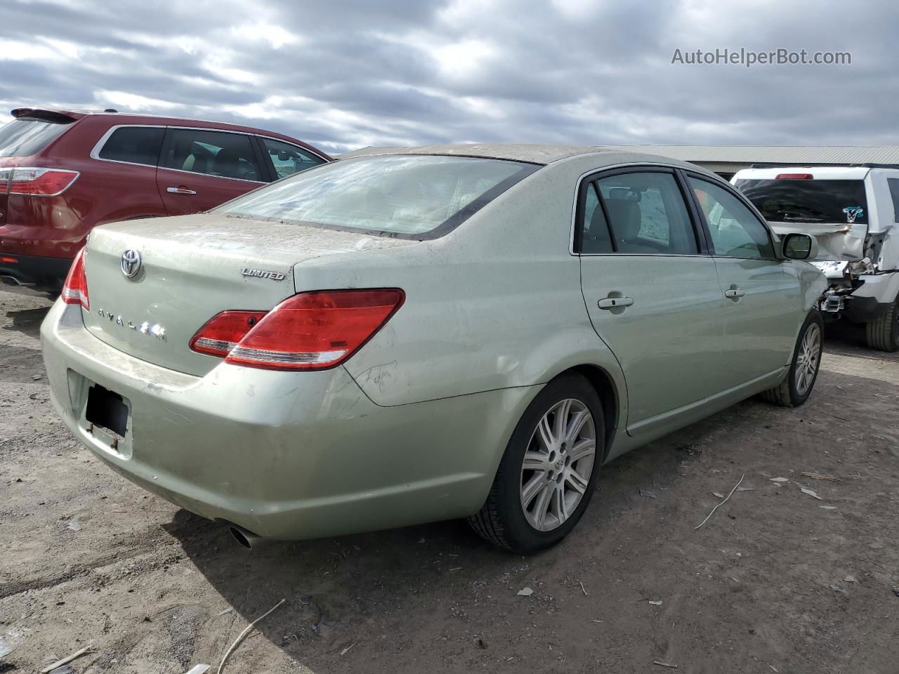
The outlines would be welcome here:
<svg viewBox="0 0 899 674">
<path fill-rule="evenodd" d="M 316 166 L 215 210 L 400 238 L 435 238 L 538 168 L 461 156 L 357 157 Z"/>
</svg>

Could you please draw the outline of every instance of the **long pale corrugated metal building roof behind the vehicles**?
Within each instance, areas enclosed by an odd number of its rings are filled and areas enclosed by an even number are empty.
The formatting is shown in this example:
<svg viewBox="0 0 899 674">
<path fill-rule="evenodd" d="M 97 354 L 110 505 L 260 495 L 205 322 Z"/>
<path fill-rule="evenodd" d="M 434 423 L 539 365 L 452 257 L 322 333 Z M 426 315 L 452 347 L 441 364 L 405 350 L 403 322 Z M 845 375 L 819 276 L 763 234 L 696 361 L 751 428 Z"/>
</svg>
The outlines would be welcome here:
<svg viewBox="0 0 899 674">
<path fill-rule="evenodd" d="M 625 152 L 646 152 L 687 162 L 899 164 L 899 146 L 622 145 L 618 147 Z"/>
</svg>

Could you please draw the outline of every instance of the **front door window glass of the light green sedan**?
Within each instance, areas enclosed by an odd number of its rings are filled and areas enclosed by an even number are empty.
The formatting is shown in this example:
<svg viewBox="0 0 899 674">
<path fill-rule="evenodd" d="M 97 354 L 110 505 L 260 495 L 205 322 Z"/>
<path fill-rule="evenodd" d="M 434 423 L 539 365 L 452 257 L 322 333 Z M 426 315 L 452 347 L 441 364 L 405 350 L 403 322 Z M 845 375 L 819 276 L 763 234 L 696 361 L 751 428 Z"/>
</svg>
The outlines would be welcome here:
<svg viewBox="0 0 899 674">
<path fill-rule="evenodd" d="M 712 235 L 712 245 L 717 255 L 774 257 L 768 230 L 739 199 L 712 182 L 693 177 L 688 181 L 706 216 L 708 232 Z"/>
</svg>

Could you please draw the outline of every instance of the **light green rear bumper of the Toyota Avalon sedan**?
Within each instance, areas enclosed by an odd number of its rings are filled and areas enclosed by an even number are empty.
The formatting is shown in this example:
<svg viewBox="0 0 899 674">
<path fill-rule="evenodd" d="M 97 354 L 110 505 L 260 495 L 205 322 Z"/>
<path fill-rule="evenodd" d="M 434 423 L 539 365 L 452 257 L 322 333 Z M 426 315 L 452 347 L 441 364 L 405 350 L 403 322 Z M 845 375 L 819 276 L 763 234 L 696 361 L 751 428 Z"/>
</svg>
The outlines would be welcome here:
<svg viewBox="0 0 899 674">
<path fill-rule="evenodd" d="M 224 363 L 205 377 L 160 368 L 88 333 L 61 302 L 41 326 L 51 398 L 120 474 L 209 519 L 275 538 L 331 536 L 478 510 L 532 387 L 394 408 L 343 368 L 280 373 Z M 86 389 L 129 402 L 117 449 L 88 430 Z"/>
</svg>

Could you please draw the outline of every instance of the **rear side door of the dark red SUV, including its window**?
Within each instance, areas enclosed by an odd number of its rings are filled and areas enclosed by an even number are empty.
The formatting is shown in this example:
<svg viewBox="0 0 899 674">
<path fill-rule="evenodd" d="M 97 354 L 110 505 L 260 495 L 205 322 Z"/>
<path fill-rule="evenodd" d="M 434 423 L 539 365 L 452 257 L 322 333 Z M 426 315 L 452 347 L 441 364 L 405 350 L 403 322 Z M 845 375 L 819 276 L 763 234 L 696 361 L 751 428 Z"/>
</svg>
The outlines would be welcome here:
<svg viewBox="0 0 899 674">
<path fill-rule="evenodd" d="M 209 210 L 269 182 L 255 137 L 169 127 L 156 173 L 170 216 Z"/>
</svg>

